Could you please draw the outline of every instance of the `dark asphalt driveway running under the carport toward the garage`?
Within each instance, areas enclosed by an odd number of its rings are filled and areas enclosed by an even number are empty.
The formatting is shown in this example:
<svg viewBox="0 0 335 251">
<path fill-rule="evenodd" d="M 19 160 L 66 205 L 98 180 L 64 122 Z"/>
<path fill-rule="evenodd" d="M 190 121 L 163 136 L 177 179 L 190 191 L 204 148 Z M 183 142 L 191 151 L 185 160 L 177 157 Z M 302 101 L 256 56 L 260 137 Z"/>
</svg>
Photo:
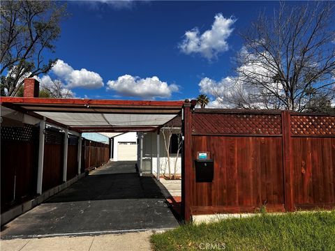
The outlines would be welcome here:
<svg viewBox="0 0 335 251">
<path fill-rule="evenodd" d="M 135 162 L 111 162 L 3 226 L 1 238 L 96 235 L 178 225 L 154 178 L 138 176 Z"/>
</svg>

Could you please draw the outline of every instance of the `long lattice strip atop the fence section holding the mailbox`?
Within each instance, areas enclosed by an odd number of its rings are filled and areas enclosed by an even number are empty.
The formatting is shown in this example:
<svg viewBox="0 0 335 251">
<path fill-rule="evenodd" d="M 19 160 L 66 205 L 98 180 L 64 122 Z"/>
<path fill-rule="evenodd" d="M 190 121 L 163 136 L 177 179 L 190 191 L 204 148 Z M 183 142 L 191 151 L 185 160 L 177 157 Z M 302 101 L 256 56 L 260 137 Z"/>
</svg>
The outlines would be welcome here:
<svg viewBox="0 0 335 251">
<path fill-rule="evenodd" d="M 193 134 L 280 135 L 280 114 L 193 114 Z"/>
</svg>

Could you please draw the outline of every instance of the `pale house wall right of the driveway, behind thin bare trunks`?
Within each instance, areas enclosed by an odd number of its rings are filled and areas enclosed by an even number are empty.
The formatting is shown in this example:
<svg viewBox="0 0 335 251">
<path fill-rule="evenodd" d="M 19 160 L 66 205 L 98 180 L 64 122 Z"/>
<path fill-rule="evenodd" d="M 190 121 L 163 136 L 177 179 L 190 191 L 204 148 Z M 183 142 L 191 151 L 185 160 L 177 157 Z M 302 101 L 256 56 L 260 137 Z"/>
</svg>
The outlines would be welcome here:
<svg viewBox="0 0 335 251">
<path fill-rule="evenodd" d="M 179 133 L 179 130 L 174 130 L 172 133 Z M 165 134 L 166 135 L 166 134 Z M 161 131 L 160 135 L 160 174 L 168 176 L 168 154 L 165 150 L 164 136 Z M 167 138 L 168 136 L 166 136 Z M 138 146 L 140 149 L 140 145 Z M 139 152 L 139 151 L 138 151 Z M 176 162 L 177 160 L 177 162 Z M 171 174 L 174 174 L 174 167 L 176 167 L 176 174 L 181 174 L 181 151 L 177 158 L 177 154 L 170 154 L 170 168 Z M 145 132 L 143 137 L 143 174 L 157 174 L 157 132 Z"/>
</svg>

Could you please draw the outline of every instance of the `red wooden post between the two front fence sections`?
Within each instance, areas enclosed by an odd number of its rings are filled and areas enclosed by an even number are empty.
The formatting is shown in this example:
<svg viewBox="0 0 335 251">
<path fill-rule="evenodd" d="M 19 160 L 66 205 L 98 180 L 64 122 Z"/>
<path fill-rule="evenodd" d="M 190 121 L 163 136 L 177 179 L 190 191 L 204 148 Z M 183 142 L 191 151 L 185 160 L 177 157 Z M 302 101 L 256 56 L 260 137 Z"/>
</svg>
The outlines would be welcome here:
<svg viewBox="0 0 335 251">
<path fill-rule="evenodd" d="M 281 113 L 283 133 L 283 181 L 284 202 L 286 211 L 294 211 L 293 197 L 293 170 L 292 170 L 292 146 L 291 146 L 291 115 L 285 111 Z"/>
</svg>

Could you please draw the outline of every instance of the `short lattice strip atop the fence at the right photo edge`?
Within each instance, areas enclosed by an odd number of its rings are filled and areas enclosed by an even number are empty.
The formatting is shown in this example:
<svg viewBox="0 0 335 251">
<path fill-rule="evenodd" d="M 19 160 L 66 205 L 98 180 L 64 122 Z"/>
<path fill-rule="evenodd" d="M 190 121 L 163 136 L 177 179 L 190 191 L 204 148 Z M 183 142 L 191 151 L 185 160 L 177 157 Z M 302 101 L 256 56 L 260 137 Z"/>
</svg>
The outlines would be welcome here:
<svg viewBox="0 0 335 251">
<path fill-rule="evenodd" d="M 291 116 L 292 135 L 335 135 L 335 116 Z"/>
</svg>

